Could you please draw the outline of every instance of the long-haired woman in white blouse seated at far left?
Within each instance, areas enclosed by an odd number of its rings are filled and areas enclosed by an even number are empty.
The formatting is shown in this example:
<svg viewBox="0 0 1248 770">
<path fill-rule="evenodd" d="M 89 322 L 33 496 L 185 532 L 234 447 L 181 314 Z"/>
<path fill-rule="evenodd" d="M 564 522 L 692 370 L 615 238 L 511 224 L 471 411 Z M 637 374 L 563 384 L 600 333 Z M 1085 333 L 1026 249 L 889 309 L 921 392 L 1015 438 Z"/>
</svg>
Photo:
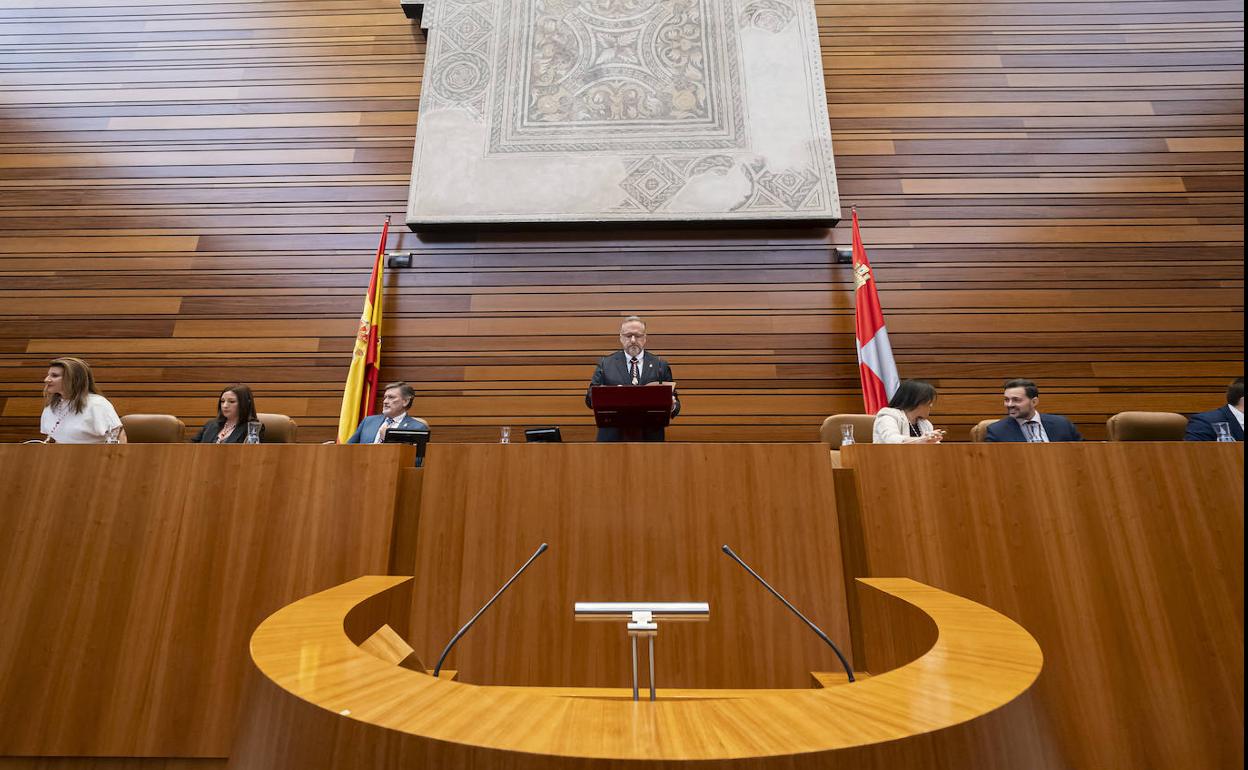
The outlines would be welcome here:
<svg viewBox="0 0 1248 770">
<path fill-rule="evenodd" d="M 44 377 L 44 414 L 39 431 L 49 444 L 102 444 L 109 436 L 126 443 L 121 418 L 95 387 L 91 367 L 81 358 L 57 358 Z"/>
</svg>

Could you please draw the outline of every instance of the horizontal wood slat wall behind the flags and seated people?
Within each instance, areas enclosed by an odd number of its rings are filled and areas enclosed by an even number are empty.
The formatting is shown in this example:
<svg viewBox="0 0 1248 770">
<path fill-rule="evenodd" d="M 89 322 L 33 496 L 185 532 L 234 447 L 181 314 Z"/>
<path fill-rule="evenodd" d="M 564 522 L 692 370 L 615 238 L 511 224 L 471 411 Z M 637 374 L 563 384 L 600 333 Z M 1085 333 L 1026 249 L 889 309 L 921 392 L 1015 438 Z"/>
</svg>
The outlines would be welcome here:
<svg viewBox="0 0 1248 770">
<path fill-rule="evenodd" d="M 393 0 L 0 7 L 0 441 L 57 354 L 122 412 L 251 383 L 333 434 L 383 217 L 402 221 L 424 41 Z M 819 1 L 842 200 L 904 377 L 965 438 L 1002 379 L 1091 438 L 1221 403 L 1243 369 L 1243 5 Z M 861 411 L 852 277 L 819 230 L 422 240 L 386 378 L 443 441 L 588 438 L 618 318 L 650 321 L 675 439 L 814 441 Z"/>
</svg>

